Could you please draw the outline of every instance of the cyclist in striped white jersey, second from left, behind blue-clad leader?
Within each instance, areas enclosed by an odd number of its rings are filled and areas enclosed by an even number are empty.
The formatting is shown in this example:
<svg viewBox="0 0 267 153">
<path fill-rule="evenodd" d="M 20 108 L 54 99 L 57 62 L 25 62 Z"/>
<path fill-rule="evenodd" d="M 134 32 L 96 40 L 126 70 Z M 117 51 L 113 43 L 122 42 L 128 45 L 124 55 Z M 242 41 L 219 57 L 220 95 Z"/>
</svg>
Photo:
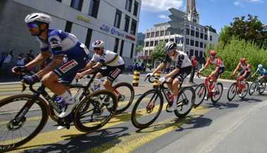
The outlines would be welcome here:
<svg viewBox="0 0 267 153">
<path fill-rule="evenodd" d="M 104 88 L 113 91 L 111 84 L 123 72 L 125 62 L 117 53 L 106 50 L 104 41 L 94 41 L 92 46 L 94 48 L 94 55 L 86 66 L 87 70 L 77 73 L 76 79 L 92 74 L 93 69 L 91 68 L 106 66 L 106 69 L 99 69 L 100 73 L 97 74 L 96 78 L 100 79 L 102 76 L 107 76 L 107 79 L 104 80 Z M 114 93 L 118 99 L 118 93 Z"/>
</svg>

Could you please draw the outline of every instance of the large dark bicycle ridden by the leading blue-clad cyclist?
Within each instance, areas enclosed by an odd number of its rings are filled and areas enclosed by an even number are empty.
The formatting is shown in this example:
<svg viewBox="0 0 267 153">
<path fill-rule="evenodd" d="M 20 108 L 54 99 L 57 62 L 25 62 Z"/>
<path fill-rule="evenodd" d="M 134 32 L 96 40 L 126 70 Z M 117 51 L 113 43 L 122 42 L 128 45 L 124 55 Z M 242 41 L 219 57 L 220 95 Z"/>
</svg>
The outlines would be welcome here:
<svg viewBox="0 0 267 153">
<path fill-rule="evenodd" d="M 25 72 L 25 74 L 30 73 L 32 72 Z M 67 126 L 69 129 L 70 122 L 73 120 L 77 130 L 87 133 L 101 128 L 113 117 L 116 112 L 117 102 L 116 96 L 112 91 L 101 90 L 90 94 L 87 93 L 96 74 L 90 77 L 87 86 L 66 84 L 71 88 L 79 88 L 79 91 L 75 94 L 75 98 L 79 102 L 75 104 L 73 112 L 68 117 L 58 119 L 58 125 Z M 23 84 L 23 91 L 26 88 Z M 58 114 L 61 113 L 60 104 L 54 102 L 50 95 L 46 93 L 43 84 L 37 90 L 32 85 L 29 88 L 34 93 L 33 95 L 13 95 L 0 100 L 0 152 L 20 147 L 35 138 L 46 125 L 49 116 L 51 116 L 49 107 L 53 107 L 58 111 Z M 107 96 L 110 101 L 102 102 L 106 100 Z M 10 106 L 8 107 L 8 105 Z M 108 109 L 108 111 L 104 113 L 104 109 Z"/>
</svg>

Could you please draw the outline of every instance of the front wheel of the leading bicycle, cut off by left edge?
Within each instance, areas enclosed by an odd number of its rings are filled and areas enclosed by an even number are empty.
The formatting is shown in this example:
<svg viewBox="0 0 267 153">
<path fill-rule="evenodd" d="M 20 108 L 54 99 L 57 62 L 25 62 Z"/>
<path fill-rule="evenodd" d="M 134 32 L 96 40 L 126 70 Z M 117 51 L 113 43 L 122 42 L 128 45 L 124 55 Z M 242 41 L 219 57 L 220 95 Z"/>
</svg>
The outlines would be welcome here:
<svg viewBox="0 0 267 153">
<path fill-rule="evenodd" d="M 47 105 L 42 98 L 37 98 L 32 105 L 34 98 L 33 95 L 14 95 L 0 100 L 0 152 L 25 144 L 44 128 L 48 120 Z M 16 117 L 26 109 L 24 116 Z"/>
</svg>

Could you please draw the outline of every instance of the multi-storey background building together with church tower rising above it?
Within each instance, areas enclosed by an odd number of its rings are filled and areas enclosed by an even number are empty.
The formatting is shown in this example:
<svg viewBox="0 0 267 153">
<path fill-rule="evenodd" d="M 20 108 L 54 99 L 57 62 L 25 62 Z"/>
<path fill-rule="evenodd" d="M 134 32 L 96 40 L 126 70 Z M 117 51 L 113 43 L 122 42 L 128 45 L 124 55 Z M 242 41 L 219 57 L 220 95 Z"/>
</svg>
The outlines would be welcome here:
<svg viewBox="0 0 267 153">
<path fill-rule="evenodd" d="M 211 26 L 199 25 L 199 13 L 197 13 L 194 0 L 187 1 L 187 22 L 185 28 L 185 38 L 183 34 L 174 34 L 168 31 L 171 27 L 168 22 L 154 25 L 151 29 L 147 29 L 146 38 L 144 39 L 144 49 L 142 58 L 144 62 L 151 62 L 151 53 L 160 41 L 175 41 L 178 48 L 182 51 L 185 40 L 185 53 L 187 55 L 195 55 L 199 60 L 203 61 L 204 51 L 207 45 L 218 45 L 219 34 Z"/>
</svg>

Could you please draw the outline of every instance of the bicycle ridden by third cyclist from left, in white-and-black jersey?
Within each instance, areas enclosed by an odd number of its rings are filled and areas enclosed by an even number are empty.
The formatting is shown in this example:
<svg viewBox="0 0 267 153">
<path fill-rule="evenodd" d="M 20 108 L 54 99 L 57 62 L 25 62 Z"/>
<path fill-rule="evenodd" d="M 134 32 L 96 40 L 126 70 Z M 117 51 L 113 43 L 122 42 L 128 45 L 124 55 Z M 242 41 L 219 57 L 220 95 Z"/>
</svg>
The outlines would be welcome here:
<svg viewBox="0 0 267 153">
<path fill-rule="evenodd" d="M 154 77 L 154 76 L 152 76 Z M 151 81 L 151 78 L 149 77 L 149 82 L 154 82 Z M 147 78 L 146 78 L 147 79 Z M 145 79 L 145 80 L 146 80 Z M 187 87 L 181 87 L 182 86 L 182 81 L 180 83 L 180 92 L 178 94 L 178 99 L 175 100 L 174 104 L 170 104 L 170 90 L 166 88 L 164 85 L 168 84 L 167 82 L 164 82 L 163 84 L 159 85 L 159 88 L 154 88 L 151 89 L 141 95 L 140 98 L 138 98 L 137 102 L 135 103 L 134 107 L 132 108 L 132 115 L 131 115 L 131 121 L 132 124 L 136 128 L 147 128 L 151 124 L 156 121 L 156 119 L 159 117 L 159 114 L 161 114 L 161 110 L 163 108 L 163 95 L 166 98 L 168 105 L 166 105 L 166 111 L 168 112 L 167 108 L 170 107 L 171 105 L 177 105 L 177 109 L 175 109 L 174 113 L 177 117 L 182 118 L 187 116 L 187 114 L 190 113 L 192 109 L 192 105 L 194 103 L 194 89 L 190 86 Z M 190 94 L 190 95 L 188 95 Z M 144 104 L 144 101 L 148 100 L 147 104 Z M 159 100 L 159 101 L 157 101 Z M 159 105 L 156 104 L 156 102 L 159 102 Z M 141 111 L 137 109 L 138 107 L 145 107 L 145 109 L 142 109 Z M 185 109 L 184 109 L 185 108 Z M 153 112 L 154 109 L 158 109 L 157 112 Z M 147 113 L 145 115 L 139 114 L 139 113 Z M 148 121 L 142 121 L 142 117 L 144 116 L 152 116 L 152 114 L 155 114 L 154 117 L 151 117 L 151 119 L 148 119 Z M 140 120 L 139 120 L 140 119 Z"/>
</svg>

